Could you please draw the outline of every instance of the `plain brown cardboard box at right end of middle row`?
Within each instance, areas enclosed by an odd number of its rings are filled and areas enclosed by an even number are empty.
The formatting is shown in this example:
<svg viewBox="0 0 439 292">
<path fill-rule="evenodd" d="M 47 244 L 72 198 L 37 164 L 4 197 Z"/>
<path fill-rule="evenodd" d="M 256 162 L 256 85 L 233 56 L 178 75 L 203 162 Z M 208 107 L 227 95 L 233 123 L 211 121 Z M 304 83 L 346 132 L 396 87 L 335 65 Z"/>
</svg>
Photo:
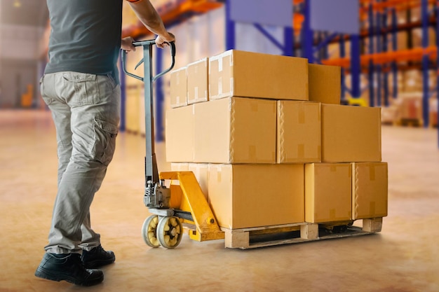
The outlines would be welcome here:
<svg viewBox="0 0 439 292">
<path fill-rule="evenodd" d="M 380 110 L 322 104 L 322 162 L 381 161 Z"/>
</svg>

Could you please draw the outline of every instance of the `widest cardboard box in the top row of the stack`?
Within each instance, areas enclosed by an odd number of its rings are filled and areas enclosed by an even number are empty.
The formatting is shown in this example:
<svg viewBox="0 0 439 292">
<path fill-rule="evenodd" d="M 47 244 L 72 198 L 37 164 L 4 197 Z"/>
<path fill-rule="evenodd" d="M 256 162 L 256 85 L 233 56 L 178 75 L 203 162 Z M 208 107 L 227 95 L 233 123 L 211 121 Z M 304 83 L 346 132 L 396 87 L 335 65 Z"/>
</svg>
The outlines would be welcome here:
<svg viewBox="0 0 439 292">
<path fill-rule="evenodd" d="M 209 59 L 209 98 L 308 100 L 308 60 L 241 50 Z"/>
</svg>

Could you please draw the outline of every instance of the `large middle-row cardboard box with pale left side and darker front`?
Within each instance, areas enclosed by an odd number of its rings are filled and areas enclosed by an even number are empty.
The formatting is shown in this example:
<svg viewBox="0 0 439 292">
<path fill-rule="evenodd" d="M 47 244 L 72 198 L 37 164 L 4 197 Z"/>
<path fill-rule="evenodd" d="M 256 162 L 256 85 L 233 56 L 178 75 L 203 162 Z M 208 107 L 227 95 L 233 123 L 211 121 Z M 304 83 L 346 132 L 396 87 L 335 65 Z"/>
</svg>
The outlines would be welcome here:
<svg viewBox="0 0 439 292">
<path fill-rule="evenodd" d="M 194 162 L 276 163 L 276 101 L 229 97 L 194 104 Z"/>
</svg>

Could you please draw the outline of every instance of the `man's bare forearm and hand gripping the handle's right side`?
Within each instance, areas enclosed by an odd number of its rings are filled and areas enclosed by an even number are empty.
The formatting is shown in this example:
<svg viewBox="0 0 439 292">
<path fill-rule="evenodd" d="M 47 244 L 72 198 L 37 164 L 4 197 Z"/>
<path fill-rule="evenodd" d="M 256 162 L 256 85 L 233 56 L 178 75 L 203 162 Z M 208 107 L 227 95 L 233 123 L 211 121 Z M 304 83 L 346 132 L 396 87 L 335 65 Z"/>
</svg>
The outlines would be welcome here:
<svg viewBox="0 0 439 292">
<path fill-rule="evenodd" d="M 149 0 L 130 1 L 129 4 L 144 26 L 152 33 L 157 34 L 156 45 L 159 48 L 168 46 L 169 42 L 175 41 L 175 36 L 166 30 L 160 15 Z"/>
</svg>

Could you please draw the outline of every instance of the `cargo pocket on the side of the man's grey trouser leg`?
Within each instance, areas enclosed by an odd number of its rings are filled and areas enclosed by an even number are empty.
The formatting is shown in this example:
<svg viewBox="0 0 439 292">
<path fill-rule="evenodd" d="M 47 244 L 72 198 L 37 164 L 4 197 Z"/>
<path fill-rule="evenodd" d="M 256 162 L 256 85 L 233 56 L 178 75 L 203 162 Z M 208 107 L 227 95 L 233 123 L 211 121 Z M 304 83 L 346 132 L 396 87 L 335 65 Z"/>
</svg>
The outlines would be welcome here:
<svg viewBox="0 0 439 292">
<path fill-rule="evenodd" d="M 113 159 L 117 133 L 117 126 L 95 118 L 95 145 L 92 155 L 103 165 L 109 165 L 109 162 Z"/>
</svg>

